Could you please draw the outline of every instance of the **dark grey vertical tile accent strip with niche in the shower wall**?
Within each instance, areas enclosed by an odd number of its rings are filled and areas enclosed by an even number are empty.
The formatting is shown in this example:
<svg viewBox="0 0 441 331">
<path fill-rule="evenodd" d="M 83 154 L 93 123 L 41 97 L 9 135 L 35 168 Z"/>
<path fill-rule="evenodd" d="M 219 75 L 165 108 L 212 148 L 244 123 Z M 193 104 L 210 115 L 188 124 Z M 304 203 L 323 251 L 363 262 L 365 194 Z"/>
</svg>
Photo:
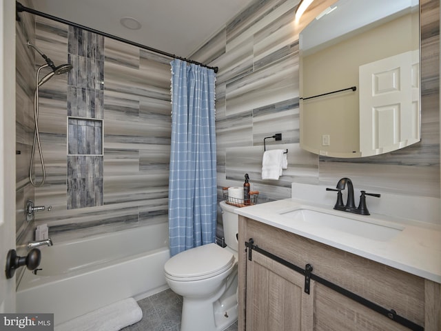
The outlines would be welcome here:
<svg viewBox="0 0 441 331">
<path fill-rule="evenodd" d="M 103 205 L 104 37 L 70 26 L 68 60 L 68 209 Z"/>
</svg>

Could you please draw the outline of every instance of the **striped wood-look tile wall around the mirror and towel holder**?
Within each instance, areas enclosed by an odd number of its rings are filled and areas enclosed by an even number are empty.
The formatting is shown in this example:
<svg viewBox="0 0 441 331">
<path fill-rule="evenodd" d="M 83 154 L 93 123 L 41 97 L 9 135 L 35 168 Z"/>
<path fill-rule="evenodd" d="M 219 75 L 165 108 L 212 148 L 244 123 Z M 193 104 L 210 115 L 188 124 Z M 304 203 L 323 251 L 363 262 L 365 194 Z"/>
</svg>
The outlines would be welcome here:
<svg viewBox="0 0 441 331">
<path fill-rule="evenodd" d="M 358 189 L 440 197 L 440 1 L 421 0 L 422 141 L 409 148 L 362 159 L 318 157 L 299 148 L 299 1 L 254 1 L 192 59 L 218 66 L 216 134 L 218 186 L 241 185 L 247 172 L 259 202 L 291 197 L 291 182 L 336 185 L 350 177 Z M 320 12 L 335 0 L 316 0 Z M 321 6 L 321 7 L 320 7 Z M 305 15 L 307 17 L 307 14 Z M 287 148 L 289 167 L 278 181 L 261 179 L 263 138 Z M 272 141 L 271 141 L 272 140 Z"/>
</svg>

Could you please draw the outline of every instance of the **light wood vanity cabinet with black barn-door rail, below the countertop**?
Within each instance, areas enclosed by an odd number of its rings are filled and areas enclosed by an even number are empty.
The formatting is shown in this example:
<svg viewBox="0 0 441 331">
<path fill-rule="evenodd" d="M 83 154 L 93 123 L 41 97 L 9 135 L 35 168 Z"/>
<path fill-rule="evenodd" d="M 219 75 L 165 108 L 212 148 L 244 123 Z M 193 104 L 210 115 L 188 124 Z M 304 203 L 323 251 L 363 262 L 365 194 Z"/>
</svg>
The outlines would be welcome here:
<svg viewBox="0 0 441 331">
<path fill-rule="evenodd" d="M 251 260 L 249 239 L 258 246 Z M 243 216 L 238 240 L 238 330 L 411 330 L 322 281 L 311 279 L 307 294 L 305 273 L 291 266 L 305 270 L 308 264 L 320 279 L 394 310 L 426 331 L 441 330 L 439 283 Z"/>
</svg>

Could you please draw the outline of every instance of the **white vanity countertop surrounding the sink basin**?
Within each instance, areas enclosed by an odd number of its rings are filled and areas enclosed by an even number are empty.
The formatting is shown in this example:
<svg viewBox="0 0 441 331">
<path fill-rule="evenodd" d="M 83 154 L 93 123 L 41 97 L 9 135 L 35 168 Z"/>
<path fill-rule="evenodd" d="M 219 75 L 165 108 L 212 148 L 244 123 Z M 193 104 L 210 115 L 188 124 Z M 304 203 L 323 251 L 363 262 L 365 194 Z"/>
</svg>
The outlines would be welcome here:
<svg viewBox="0 0 441 331">
<path fill-rule="evenodd" d="M 353 219 L 354 223 L 363 221 L 387 225 L 398 231 L 390 239 L 373 239 L 351 234 L 345 229 L 327 228 L 283 215 L 283 212 L 302 208 Z M 333 206 L 306 203 L 297 199 L 284 199 L 236 208 L 235 212 L 267 225 L 441 283 L 441 227 L 438 225 L 394 219 L 373 213 L 369 216 L 362 216 L 340 212 L 334 210 Z"/>
</svg>

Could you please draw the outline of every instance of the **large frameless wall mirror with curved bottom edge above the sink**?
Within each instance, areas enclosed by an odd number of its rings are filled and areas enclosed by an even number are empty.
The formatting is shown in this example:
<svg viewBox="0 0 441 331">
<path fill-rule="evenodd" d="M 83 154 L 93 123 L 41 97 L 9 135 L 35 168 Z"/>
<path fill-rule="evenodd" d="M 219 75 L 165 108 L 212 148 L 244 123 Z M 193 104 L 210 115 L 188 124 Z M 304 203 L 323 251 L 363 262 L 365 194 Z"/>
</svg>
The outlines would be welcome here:
<svg viewBox="0 0 441 331">
<path fill-rule="evenodd" d="M 299 36 L 300 147 L 367 157 L 420 141 L 418 0 L 339 0 Z"/>
</svg>

